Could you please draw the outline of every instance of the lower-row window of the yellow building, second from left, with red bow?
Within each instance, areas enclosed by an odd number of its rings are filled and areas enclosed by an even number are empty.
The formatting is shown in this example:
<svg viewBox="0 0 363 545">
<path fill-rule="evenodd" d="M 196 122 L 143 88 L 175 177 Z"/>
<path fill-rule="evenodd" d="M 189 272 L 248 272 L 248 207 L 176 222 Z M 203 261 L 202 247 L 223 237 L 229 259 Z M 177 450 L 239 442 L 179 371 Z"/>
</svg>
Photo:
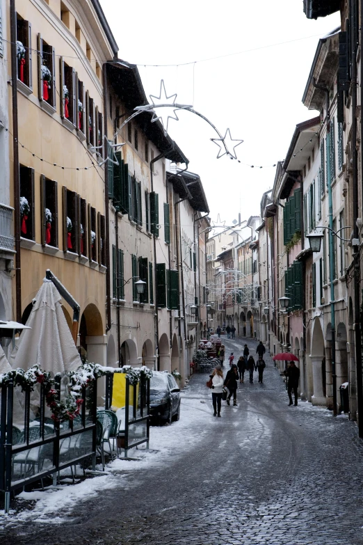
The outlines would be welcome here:
<svg viewBox="0 0 363 545">
<path fill-rule="evenodd" d="M 40 176 L 42 245 L 58 248 L 58 184 Z"/>
</svg>

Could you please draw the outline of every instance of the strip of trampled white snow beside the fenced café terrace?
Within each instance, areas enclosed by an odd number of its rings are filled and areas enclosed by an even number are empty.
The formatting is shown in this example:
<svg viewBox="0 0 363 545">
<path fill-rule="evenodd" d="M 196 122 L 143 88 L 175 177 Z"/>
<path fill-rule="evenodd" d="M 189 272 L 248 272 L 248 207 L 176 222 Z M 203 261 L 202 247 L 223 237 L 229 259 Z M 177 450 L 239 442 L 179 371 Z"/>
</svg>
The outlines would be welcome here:
<svg viewBox="0 0 363 545">
<path fill-rule="evenodd" d="M 102 466 L 97 466 L 97 470 L 101 470 L 97 471 L 97 476 L 87 478 L 78 484 L 70 484 L 72 480 L 66 476 L 70 475 L 68 468 L 61 473 L 65 479 L 61 480 L 57 487 L 20 493 L 17 496 L 19 500 L 27 502 L 33 500 L 36 502 L 35 505 L 17 513 L 12 510 L 9 515 L 0 510 L 0 523 L 19 523 L 28 520 L 38 523 L 63 523 L 67 514 L 76 509 L 80 502 L 96 497 L 105 490 L 131 486 L 127 480 L 129 471 L 165 466 L 175 460 L 181 452 L 190 450 L 207 433 L 198 431 L 193 434 L 193 424 L 203 419 L 207 413 L 210 413 L 210 408 L 207 404 L 201 404 L 199 397 L 188 398 L 182 393 L 179 422 L 173 422 L 171 426 L 150 427 L 150 450 L 145 450 L 145 445 L 140 445 L 139 449 L 131 449 L 128 455 L 134 460 L 115 459 L 107 464 L 105 473 L 102 472 Z M 59 513 L 62 516 L 58 516 Z"/>
</svg>

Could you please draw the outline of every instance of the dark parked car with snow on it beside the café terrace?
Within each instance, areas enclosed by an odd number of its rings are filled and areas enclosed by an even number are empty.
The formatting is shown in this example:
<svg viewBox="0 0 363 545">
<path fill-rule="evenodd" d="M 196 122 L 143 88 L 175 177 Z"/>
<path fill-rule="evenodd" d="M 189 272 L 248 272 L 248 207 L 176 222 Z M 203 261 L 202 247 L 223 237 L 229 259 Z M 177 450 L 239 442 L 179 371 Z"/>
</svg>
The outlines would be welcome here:
<svg viewBox="0 0 363 545">
<path fill-rule="evenodd" d="M 150 379 L 150 417 L 152 423 L 179 420 L 180 388 L 168 371 L 153 371 Z"/>
</svg>

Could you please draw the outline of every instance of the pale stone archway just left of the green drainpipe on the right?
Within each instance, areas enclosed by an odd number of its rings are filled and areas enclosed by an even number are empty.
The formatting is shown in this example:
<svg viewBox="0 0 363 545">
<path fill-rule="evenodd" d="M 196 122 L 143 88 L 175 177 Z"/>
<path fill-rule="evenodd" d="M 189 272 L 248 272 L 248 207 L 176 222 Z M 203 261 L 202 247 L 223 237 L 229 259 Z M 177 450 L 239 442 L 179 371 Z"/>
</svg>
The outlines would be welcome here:
<svg viewBox="0 0 363 545">
<path fill-rule="evenodd" d="M 318 318 L 314 319 L 312 329 L 312 352 L 310 357 L 312 359 L 314 388 L 312 404 L 324 406 L 326 405 L 325 349 L 323 330 L 321 329 L 321 323 Z"/>
</svg>

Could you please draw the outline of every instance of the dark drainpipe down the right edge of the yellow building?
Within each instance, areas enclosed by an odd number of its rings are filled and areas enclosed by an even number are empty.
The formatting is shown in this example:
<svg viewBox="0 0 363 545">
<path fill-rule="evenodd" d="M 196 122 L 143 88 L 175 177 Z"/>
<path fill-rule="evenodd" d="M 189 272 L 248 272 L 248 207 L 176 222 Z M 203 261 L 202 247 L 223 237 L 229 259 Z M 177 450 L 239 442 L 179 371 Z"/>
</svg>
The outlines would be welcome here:
<svg viewBox="0 0 363 545">
<path fill-rule="evenodd" d="M 107 70 L 106 63 L 103 67 L 103 80 L 104 80 L 104 135 L 107 137 Z M 104 142 L 104 157 L 107 157 L 108 149 L 107 143 Z M 111 329 L 111 274 L 110 274 L 110 218 L 108 213 L 108 168 L 107 163 L 104 167 L 104 218 L 106 223 L 106 240 L 104 242 L 106 246 L 106 333 Z M 118 218 L 116 216 L 116 224 Z M 116 254 L 117 255 L 117 254 Z M 120 333 L 120 321 L 118 322 L 118 333 Z M 120 356 L 120 346 L 119 346 Z M 119 359 L 120 362 L 120 359 Z"/>
</svg>

